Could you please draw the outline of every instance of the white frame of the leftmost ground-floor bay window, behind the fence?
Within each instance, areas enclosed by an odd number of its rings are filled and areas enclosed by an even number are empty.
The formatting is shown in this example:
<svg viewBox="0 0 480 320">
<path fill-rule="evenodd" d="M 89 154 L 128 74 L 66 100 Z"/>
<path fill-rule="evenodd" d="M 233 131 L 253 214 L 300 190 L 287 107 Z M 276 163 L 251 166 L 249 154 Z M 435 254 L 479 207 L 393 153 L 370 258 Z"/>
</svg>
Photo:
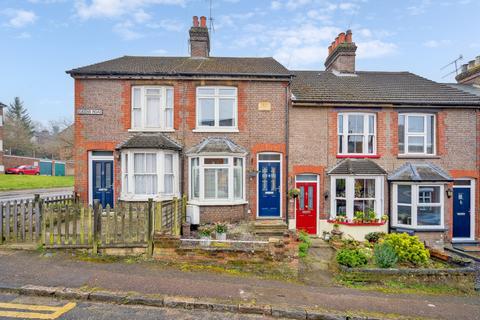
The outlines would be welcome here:
<svg viewBox="0 0 480 320">
<path fill-rule="evenodd" d="M 140 153 L 156 154 L 156 175 L 157 175 L 157 193 L 156 194 L 135 194 L 135 163 L 134 155 Z M 165 193 L 165 155 L 172 155 L 173 166 L 173 192 Z M 128 160 L 126 160 L 128 158 Z M 173 197 L 180 196 L 179 189 L 179 170 L 180 157 L 178 152 L 158 149 L 126 149 L 120 153 L 121 169 L 121 196 L 125 201 L 146 201 L 149 198 L 154 200 L 171 200 Z"/>
</svg>

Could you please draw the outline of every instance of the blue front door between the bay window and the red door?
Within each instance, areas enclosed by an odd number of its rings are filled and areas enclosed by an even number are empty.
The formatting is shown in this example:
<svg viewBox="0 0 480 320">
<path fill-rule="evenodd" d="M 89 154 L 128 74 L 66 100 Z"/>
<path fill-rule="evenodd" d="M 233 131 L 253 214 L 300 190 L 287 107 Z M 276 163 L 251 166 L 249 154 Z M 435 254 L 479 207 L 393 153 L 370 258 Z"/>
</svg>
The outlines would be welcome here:
<svg viewBox="0 0 480 320">
<path fill-rule="evenodd" d="M 258 216 L 280 217 L 280 162 L 259 162 Z"/>
</svg>

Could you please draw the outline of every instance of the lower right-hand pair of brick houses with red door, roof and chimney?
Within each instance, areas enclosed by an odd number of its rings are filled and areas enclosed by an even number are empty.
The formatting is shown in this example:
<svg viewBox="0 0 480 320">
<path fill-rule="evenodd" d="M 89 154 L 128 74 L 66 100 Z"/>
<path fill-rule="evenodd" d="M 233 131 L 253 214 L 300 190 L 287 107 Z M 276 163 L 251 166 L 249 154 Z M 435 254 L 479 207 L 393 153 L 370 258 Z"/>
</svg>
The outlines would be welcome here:
<svg viewBox="0 0 480 320">
<path fill-rule="evenodd" d="M 480 97 L 410 72 L 357 71 L 356 49 L 340 33 L 325 70 L 293 71 L 290 227 L 478 240 Z"/>
</svg>

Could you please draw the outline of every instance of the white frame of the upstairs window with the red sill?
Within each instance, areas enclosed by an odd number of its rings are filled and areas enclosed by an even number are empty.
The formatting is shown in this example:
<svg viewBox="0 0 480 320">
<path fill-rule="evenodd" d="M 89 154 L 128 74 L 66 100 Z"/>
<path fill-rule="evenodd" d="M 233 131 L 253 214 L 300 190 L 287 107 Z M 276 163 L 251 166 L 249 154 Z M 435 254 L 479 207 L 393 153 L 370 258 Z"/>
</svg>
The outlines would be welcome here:
<svg viewBox="0 0 480 320">
<path fill-rule="evenodd" d="M 363 116 L 363 133 L 348 133 L 348 118 L 350 116 Z M 373 116 L 373 134 L 370 133 L 370 116 Z M 342 126 L 340 130 L 340 119 Z M 373 135 L 372 152 L 368 152 L 368 138 Z M 363 150 L 361 153 L 348 152 L 348 136 L 361 136 L 363 139 Z M 339 141 L 342 139 L 342 143 Z M 341 156 L 375 156 L 377 155 L 377 114 L 373 112 L 340 112 L 337 115 L 337 155 Z M 340 146 L 342 148 L 340 148 Z M 341 150 L 342 149 L 342 150 Z"/>
</svg>

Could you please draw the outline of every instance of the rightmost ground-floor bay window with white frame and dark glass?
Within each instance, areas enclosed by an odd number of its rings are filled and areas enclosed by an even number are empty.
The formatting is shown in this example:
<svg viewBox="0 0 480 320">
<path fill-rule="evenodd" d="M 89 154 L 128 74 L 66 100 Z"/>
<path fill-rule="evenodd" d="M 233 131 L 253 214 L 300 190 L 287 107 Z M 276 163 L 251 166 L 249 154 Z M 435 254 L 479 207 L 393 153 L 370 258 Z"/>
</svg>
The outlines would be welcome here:
<svg viewBox="0 0 480 320">
<path fill-rule="evenodd" d="M 442 184 L 394 183 L 392 226 L 415 229 L 444 227 Z"/>
</svg>

